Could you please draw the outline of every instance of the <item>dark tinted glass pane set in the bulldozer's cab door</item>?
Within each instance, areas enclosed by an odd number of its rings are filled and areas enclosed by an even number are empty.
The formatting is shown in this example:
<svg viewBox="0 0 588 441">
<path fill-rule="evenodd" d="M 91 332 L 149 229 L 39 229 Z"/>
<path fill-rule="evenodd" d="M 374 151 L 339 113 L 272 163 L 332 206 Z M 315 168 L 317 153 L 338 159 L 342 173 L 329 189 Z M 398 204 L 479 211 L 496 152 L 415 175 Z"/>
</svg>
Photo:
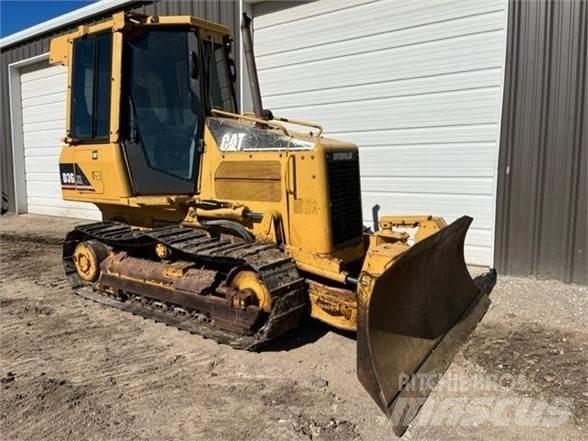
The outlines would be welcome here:
<svg viewBox="0 0 588 441">
<path fill-rule="evenodd" d="M 143 32 L 127 41 L 126 51 L 129 126 L 148 165 L 192 181 L 200 122 L 198 82 L 190 77 L 195 34 Z"/>
</svg>

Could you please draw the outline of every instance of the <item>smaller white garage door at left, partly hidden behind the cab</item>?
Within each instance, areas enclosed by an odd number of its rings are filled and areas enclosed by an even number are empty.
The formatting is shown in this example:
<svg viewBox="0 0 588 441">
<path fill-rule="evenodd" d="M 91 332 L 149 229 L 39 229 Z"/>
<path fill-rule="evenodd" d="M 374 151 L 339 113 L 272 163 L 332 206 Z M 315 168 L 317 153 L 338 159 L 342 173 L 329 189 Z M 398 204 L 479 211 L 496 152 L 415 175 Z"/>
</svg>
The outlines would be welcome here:
<svg viewBox="0 0 588 441">
<path fill-rule="evenodd" d="M 66 69 L 38 63 L 22 68 L 20 80 L 27 211 L 100 219 L 94 205 L 61 199 L 59 152 L 65 136 Z"/>
</svg>

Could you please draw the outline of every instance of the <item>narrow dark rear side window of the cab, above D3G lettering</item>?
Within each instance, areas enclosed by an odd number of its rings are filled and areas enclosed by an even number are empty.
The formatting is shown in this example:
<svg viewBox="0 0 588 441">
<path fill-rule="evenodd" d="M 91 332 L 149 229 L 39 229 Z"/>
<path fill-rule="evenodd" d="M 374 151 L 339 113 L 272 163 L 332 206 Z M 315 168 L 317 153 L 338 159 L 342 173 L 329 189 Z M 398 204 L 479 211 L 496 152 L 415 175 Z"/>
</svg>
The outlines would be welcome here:
<svg viewBox="0 0 588 441">
<path fill-rule="evenodd" d="M 70 136 L 81 141 L 108 139 L 112 34 L 74 41 Z"/>
</svg>

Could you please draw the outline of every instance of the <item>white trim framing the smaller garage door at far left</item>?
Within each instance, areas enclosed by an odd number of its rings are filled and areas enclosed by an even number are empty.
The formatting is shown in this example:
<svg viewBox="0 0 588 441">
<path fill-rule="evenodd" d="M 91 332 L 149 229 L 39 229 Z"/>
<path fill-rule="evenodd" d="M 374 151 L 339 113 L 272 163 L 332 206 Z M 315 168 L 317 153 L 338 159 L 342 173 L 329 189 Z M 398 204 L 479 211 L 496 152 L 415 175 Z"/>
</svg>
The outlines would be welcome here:
<svg viewBox="0 0 588 441">
<path fill-rule="evenodd" d="M 27 187 L 24 157 L 24 137 L 21 106 L 21 69 L 25 66 L 49 60 L 49 52 L 19 60 L 8 65 L 8 100 L 10 103 L 10 127 L 12 140 L 12 170 L 14 174 L 14 209 L 27 212 Z"/>
</svg>

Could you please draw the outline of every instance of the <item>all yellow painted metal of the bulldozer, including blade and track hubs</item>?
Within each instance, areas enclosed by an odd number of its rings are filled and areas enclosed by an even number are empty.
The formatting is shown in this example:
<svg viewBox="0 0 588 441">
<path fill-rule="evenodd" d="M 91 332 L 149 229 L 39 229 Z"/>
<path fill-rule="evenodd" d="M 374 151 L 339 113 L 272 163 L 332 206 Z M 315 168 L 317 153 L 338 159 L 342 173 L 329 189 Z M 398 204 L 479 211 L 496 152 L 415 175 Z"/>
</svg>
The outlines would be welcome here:
<svg viewBox="0 0 588 441">
<path fill-rule="evenodd" d="M 204 151 L 194 183 L 198 190 L 193 195 L 134 195 L 119 139 L 124 32 L 130 26 L 172 25 L 199 28 L 204 39 L 220 40 L 229 33 L 224 26 L 194 17 L 119 13 L 51 42 L 51 62 L 69 67 L 76 38 L 113 33 L 108 142 L 88 145 L 71 138 L 69 69 L 67 134 L 60 164 L 80 168 L 91 191 L 87 185 L 85 189 L 68 187 L 63 189 L 63 198 L 94 203 L 105 220 L 139 227 L 232 220 L 258 241 L 280 244 L 308 283 L 312 317 L 357 331 L 360 381 L 393 420 L 397 433 L 402 433 L 407 418 L 414 417 L 428 391 L 412 396 L 404 386 L 399 388 L 398 375 L 442 373 L 488 307 L 488 299 L 472 282 L 463 259 L 471 218 L 447 226 L 442 218 L 433 216 L 384 216 L 378 232 L 335 246 L 327 155 L 357 153 L 357 146 L 323 137 L 322 127 L 312 122 L 279 117 L 265 121 L 220 110 L 212 110 L 213 116 L 239 123 L 244 129 L 256 127 L 266 134 L 301 141 L 308 149 L 223 151 L 205 125 Z M 305 133 L 293 131 L 293 125 Z M 416 229 L 412 247 L 403 231 L 407 229 Z M 97 277 L 100 259 L 95 251 L 87 244 L 75 250 L 76 268 L 87 281 Z M 157 244 L 154 251 L 161 259 L 170 257 L 163 244 Z M 163 275 L 182 277 L 186 264 L 166 263 L 161 267 Z M 357 274 L 359 280 L 350 277 Z M 171 286 L 160 278 L 142 283 Z M 254 296 L 263 310 L 271 311 L 269 291 L 254 271 L 239 269 L 230 276 L 230 286 L 243 292 L 244 296 L 236 296 L 238 301 Z M 398 397 L 409 398 L 410 403 L 404 405 Z"/>
</svg>

